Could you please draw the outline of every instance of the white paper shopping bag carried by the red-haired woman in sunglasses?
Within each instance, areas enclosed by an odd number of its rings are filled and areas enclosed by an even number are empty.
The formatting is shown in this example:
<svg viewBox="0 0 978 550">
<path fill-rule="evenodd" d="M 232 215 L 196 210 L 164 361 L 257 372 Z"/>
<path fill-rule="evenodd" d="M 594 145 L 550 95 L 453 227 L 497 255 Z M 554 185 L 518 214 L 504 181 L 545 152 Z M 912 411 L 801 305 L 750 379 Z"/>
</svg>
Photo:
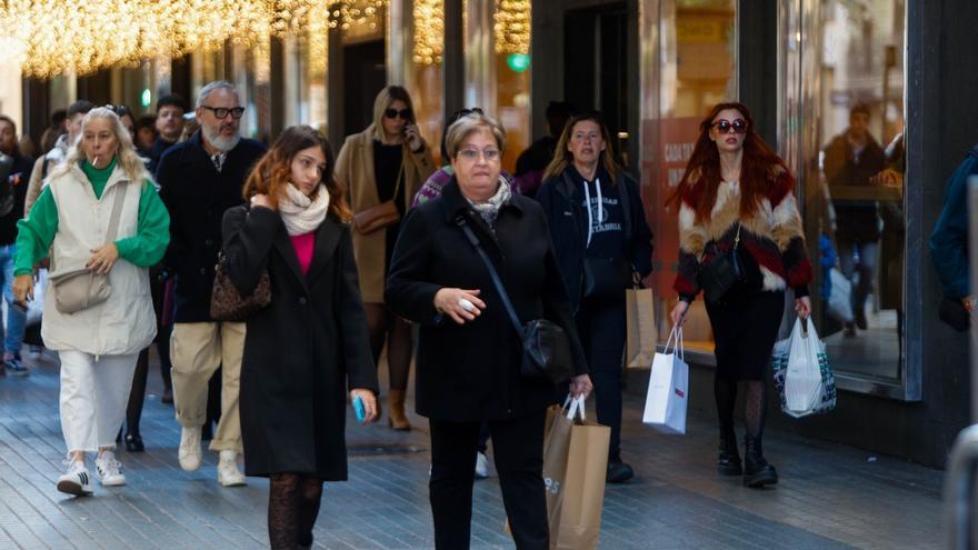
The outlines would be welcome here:
<svg viewBox="0 0 978 550">
<path fill-rule="evenodd" d="M 686 433 L 688 401 L 689 366 L 682 349 L 682 328 L 673 327 L 666 348 L 652 360 L 642 422 L 663 433 Z"/>
</svg>

